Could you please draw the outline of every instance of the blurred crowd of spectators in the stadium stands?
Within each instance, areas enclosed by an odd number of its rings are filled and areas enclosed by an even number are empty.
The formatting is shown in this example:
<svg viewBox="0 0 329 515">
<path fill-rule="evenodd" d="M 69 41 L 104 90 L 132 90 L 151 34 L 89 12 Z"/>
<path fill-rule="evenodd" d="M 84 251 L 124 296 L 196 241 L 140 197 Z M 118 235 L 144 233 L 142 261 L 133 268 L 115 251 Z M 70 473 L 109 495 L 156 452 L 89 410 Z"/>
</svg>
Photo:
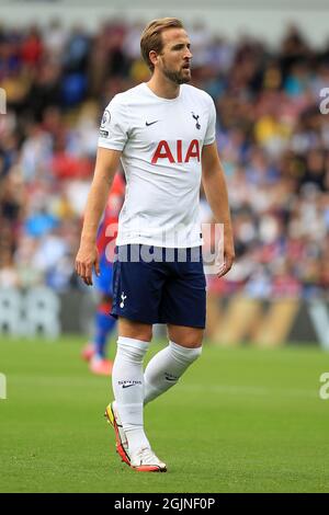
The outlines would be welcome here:
<svg viewBox="0 0 329 515">
<path fill-rule="evenodd" d="M 214 291 L 258 298 L 328 296 L 329 46 L 291 27 L 277 48 L 188 27 L 193 84 L 217 107 L 237 262 Z M 83 286 L 73 274 L 99 125 L 114 94 L 148 79 L 143 26 L 97 34 L 58 21 L 0 27 L 0 286 Z M 211 213 L 202 195 L 202 216 Z"/>
</svg>

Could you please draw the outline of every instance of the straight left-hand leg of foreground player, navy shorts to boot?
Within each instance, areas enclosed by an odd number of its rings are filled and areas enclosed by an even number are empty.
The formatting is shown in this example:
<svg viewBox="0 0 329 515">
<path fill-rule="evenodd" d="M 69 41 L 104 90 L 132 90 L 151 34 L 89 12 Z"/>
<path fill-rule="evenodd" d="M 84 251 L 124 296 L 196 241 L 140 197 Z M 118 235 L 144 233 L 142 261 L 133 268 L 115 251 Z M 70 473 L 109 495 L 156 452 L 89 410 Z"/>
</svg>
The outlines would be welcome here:
<svg viewBox="0 0 329 515">
<path fill-rule="evenodd" d="M 166 465 L 151 451 L 144 430 L 143 362 L 151 341 L 152 323 L 157 321 L 158 286 L 152 267 L 115 263 L 112 312 L 118 317 L 118 340 L 112 370 L 115 397 L 112 408 L 118 415 L 114 423 L 118 428 L 122 426 L 121 439 L 127 440 L 129 465 L 145 471 L 166 470 Z"/>
</svg>

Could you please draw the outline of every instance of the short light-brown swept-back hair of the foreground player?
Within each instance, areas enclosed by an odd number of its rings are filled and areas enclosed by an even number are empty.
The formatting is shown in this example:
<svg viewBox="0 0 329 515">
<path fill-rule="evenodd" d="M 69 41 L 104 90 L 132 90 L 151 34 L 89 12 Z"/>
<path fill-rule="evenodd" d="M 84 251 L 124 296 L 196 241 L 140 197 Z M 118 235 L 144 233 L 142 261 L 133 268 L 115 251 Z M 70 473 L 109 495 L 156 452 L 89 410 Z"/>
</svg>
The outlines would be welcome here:
<svg viewBox="0 0 329 515">
<path fill-rule="evenodd" d="M 140 52 L 141 56 L 151 71 L 154 71 L 155 66 L 150 61 L 149 53 L 155 50 L 157 54 L 160 54 L 163 48 L 163 42 L 161 33 L 167 28 L 184 28 L 183 23 L 178 18 L 159 18 L 158 20 L 152 20 L 144 28 L 140 37 Z"/>
</svg>

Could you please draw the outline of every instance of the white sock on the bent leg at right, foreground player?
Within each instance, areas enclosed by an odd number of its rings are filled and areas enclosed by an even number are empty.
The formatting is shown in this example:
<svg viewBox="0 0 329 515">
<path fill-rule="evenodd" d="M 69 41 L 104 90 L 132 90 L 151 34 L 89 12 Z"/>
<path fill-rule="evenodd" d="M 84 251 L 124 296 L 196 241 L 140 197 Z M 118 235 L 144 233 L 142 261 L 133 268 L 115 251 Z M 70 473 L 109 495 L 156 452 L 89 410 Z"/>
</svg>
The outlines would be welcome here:
<svg viewBox="0 0 329 515">
<path fill-rule="evenodd" d="M 189 348 L 169 342 L 148 363 L 144 374 L 144 404 L 173 387 L 186 368 L 201 355 L 202 347 Z"/>
</svg>

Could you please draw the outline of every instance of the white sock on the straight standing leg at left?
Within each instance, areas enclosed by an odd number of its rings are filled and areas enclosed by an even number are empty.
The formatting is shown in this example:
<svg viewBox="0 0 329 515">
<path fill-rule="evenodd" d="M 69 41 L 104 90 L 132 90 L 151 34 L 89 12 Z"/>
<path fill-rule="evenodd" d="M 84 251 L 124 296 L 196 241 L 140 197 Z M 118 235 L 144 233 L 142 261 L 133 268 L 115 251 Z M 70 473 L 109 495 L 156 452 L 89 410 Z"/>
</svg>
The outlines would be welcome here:
<svg viewBox="0 0 329 515">
<path fill-rule="evenodd" d="M 147 342 L 118 336 L 112 370 L 116 409 L 127 436 L 131 455 L 140 447 L 150 447 L 144 432 L 143 417 L 143 359 L 147 350 Z"/>
</svg>

